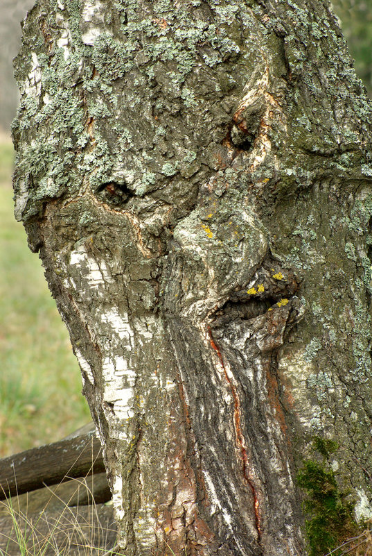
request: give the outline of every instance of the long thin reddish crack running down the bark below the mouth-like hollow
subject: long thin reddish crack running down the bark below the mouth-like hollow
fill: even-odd
[[[215,344],[215,341],[212,336],[211,327],[208,326],[208,333],[209,333],[209,342],[211,344],[211,348],[214,349],[215,353],[218,355],[218,359],[220,360],[220,364],[222,369],[224,370],[224,376],[226,377],[227,382],[229,382],[229,386],[231,388],[231,393],[233,394],[233,401],[234,401],[234,425],[236,430],[236,441],[240,448],[240,453],[242,454],[242,466],[243,466],[243,475],[245,480],[247,480],[248,485],[251,489],[253,499],[254,499],[254,516],[256,521],[256,530],[258,534],[258,544],[260,544],[261,539],[261,528],[260,528],[260,503],[258,502],[258,497],[256,494],[256,489],[254,488],[254,483],[251,480],[249,475],[249,459],[247,455],[247,450],[245,449],[245,438],[242,435],[242,429],[240,427],[240,399],[238,393],[236,391],[236,387],[231,382],[229,375],[224,367],[224,360],[222,359],[222,355],[220,352],[220,348]]]

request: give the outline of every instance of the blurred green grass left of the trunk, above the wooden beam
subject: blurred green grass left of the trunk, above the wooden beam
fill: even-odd
[[[12,161],[12,144],[0,136],[0,457],[90,419],[67,330],[12,214]]]

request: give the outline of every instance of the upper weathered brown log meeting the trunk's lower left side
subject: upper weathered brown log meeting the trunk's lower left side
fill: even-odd
[[[93,432],[46,444],[0,460],[0,500],[103,471],[100,441]]]

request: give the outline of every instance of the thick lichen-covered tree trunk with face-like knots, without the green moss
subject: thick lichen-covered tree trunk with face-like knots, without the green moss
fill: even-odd
[[[371,517],[372,111],[326,0],[38,0],[23,28],[15,214],[118,546],[314,552],[303,459]]]

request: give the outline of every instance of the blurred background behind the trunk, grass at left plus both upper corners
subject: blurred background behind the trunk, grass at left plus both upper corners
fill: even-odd
[[[11,59],[19,48],[19,21],[33,3],[0,0],[0,457],[56,441],[90,419],[67,330],[12,213],[8,129],[17,87]],[[333,0],[333,6],[372,95],[372,0]]]

